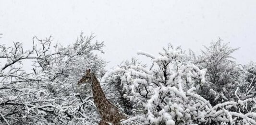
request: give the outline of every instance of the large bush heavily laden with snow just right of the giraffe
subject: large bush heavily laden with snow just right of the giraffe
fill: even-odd
[[[169,45],[159,52],[159,57],[145,52],[139,55],[150,57],[152,66],[128,64],[111,71],[110,76],[120,76],[125,98],[143,107],[122,124],[153,125],[254,125],[256,113],[247,110],[247,102],[255,98],[218,103],[196,94],[205,84],[207,70],[195,66],[180,47]],[[136,111],[136,110],[134,110]],[[235,111],[235,112],[234,112]]]

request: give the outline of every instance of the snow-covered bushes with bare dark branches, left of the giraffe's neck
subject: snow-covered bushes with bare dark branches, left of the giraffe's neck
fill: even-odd
[[[30,50],[18,42],[0,45],[0,123],[97,124],[90,90],[76,86],[85,68],[92,68],[99,77],[105,73],[106,62],[95,54],[103,52],[104,44],[92,42],[93,38],[81,34],[73,45],[58,47],[51,45],[51,37],[34,37]],[[31,72],[23,69],[24,61],[33,61]]]

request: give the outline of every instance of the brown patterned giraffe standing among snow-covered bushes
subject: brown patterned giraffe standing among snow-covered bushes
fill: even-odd
[[[92,84],[94,103],[101,117],[99,125],[109,125],[108,123],[111,123],[112,125],[121,125],[120,121],[122,119],[127,119],[127,117],[122,114],[116,106],[108,101],[100,87],[98,79],[94,73],[91,73],[90,71],[91,69],[87,69],[85,75],[77,82],[77,84],[81,85],[86,82]]]

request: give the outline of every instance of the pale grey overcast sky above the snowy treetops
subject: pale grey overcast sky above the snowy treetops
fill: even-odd
[[[80,32],[105,41],[108,68],[168,43],[196,52],[221,37],[241,47],[234,57],[256,61],[256,0],[0,0],[0,44],[49,35],[72,44]]]

